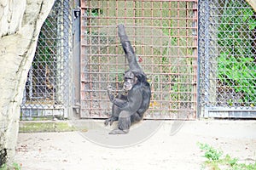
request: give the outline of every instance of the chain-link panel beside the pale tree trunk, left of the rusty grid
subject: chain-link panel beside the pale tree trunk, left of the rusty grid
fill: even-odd
[[[69,1],[56,0],[38,37],[20,116],[64,116],[68,100]],[[67,95],[66,95],[67,94]]]

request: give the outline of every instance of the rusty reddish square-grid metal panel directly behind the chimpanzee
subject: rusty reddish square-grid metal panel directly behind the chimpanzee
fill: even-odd
[[[81,3],[81,116],[108,116],[108,84],[122,91],[129,67],[117,25],[124,24],[152,88],[146,117],[195,118],[197,1]]]

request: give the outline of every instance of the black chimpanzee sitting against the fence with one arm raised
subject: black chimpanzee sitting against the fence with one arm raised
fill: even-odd
[[[105,125],[112,125],[118,122],[118,128],[110,134],[125,134],[129,132],[132,122],[139,122],[143,119],[143,114],[148,110],[151,90],[147,82],[147,77],[141,67],[137,64],[136,54],[131,47],[131,42],[125,34],[125,26],[119,25],[119,37],[125,56],[129,62],[129,71],[125,71],[124,89],[126,95],[119,94],[116,98],[113,95],[113,88],[108,87],[108,96],[113,103],[112,116],[105,121]]]

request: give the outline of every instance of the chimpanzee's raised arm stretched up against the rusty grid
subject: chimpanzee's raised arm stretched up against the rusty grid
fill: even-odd
[[[137,63],[136,54],[135,54],[133,48],[131,47],[131,42],[129,41],[128,37],[126,36],[125,26],[120,24],[118,26],[118,29],[119,29],[120,41],[121,41],[122,47],[125,51],[126,59],[128,59],[128,62],[129,62],[130,71],[134,71],[137,73],[143,73],[141,67]]]

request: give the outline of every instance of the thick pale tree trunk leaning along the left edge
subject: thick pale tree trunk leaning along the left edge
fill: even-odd
[[[39,31],[53,3],[54,0],[0,2],[0,167],[15,155],[27,72]]]

